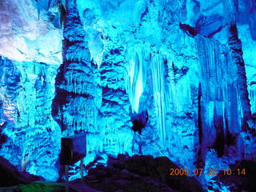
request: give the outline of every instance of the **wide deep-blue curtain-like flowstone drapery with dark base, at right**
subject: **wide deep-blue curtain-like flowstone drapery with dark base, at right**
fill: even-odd
[[[197,36],[199,62],[201,66],[200,118],[198,124],[201,149],[198,159],[204,162],[207,148],[215,148],[223,155],[226,145],[226,130],[232,134],[241,131],[242,116],[238,106],[235,77],[237,68],[225,46],[211,39]],[[218,69],[222,69],[222,72]],[[199,114],[198,114],[199,115]],[[199,117],[198,117],[199,118]],[[224,123],[225,122],[225,123]],[[232,127],[226,127],[232,125]]]

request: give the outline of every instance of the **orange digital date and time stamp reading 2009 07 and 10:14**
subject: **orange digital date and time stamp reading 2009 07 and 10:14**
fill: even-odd
[[[246,169],[200,169],[196,168],[193,170],[189,169],[174,169],[171,168],[169,171],[170,176],[181,176],[181,175],[189,175],[189,176],[200,176],[200,175],[217,175],[220,171],[224,175],[246,175]]]

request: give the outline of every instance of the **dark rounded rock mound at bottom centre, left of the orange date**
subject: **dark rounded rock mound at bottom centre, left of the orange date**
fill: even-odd
[[[110,159],[109,166],[91,169],[84,181],[102,191],[180,191],[204,192],[195,178],[170,176],[170,168],[178,168],[169,158],[134,155]]]

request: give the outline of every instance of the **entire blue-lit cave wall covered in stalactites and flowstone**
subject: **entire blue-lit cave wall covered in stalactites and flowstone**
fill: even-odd
[[[24,42],[33,51],[20,61],[0,46],[2,156],[20,168],[29,159],[30,173],[54,180],[60,138],[84,133],[86,164],[117,154],[190,169],[255,159],[253,0],[46,2],[29,2],[47,29]],[[20,45],[14,37],[0,35]],[[146,110],[134,132],[131,117]]]

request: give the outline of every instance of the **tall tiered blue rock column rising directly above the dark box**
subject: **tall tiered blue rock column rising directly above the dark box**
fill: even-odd
[[[58,94],[63,93],[61,97],[66,99],[63,104],[59,102],[58,117],[55,117],[62,122],[62,136],[98,132],[102,93],[98,68],[90,62],[88,38],[82,25],[76,2],[68,1],[63,31],[65,59],[56,84],[60,90]]]

